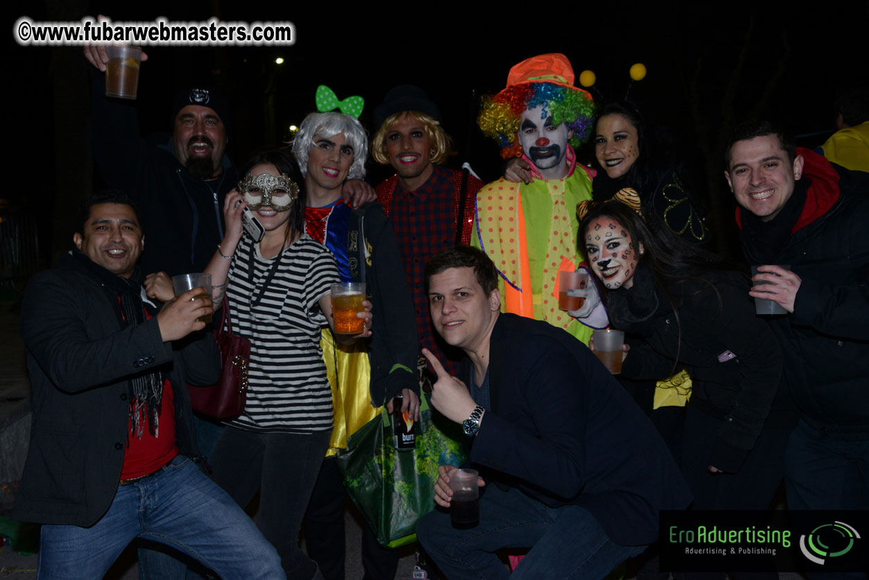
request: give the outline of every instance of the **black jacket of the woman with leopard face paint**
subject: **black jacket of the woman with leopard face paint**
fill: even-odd
[[[630,289],[609,293],[609,315],[615,328],[642,337],[629,341],[622,374],[660,380],[684,367],[693,384],[689,404],[725,420],[709,464],[736,470],[753,449],[779,389],[781,350],[754,314],[748,280],[724,272],[698,277],[708,283],[687,281],[670,289],[677,319],[648,267],[640,265]]]

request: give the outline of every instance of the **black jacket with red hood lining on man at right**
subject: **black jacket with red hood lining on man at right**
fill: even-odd
[[[811,182],[799,221],[810,221],[774,263],[789,264],[801,282],[793,314],[770,325],[803,416],[842,437],[869,439],[869,174],[799,152]]]

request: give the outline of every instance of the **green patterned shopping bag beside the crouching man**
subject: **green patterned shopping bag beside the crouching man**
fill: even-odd
[[[386,407],[338,451],[344,485],[381,545],[396,548],[416,540],[416,522],[434,509],[434,482],[440,465],[461,465],[464,449],[461,425],[449,421],[420,397],[413,450],[395,450],[391,417]]]

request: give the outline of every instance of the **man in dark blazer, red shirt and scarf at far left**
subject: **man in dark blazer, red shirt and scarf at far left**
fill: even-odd
[[[142,228],[123,193],[90,197],[73,239],[22,303],[33,425],[13,516],[44,524],[39,576],[103,577],[140,537],[222,577],[283,577],[275,549],[192,460],[185,383],[220,376],[197,321],[210,300],[195,289],[159,312],[148,303]]]

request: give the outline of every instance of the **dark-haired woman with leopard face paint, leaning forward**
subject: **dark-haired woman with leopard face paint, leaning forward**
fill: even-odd
[[[578,209],[580,250],[607,290],[611,323],[628,337],[621,374],[662,379],[685,368],[693,393],[677,459],[694,507],[764,510],[789,433],[773,404],[779,344],[746,298],[746,276],[639,208],[634,199],[634,208],[609,201]]]

